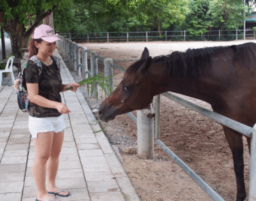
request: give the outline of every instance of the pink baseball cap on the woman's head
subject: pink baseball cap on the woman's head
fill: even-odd
[[[48,43],[53,43],[56,40],[60,40],[59,37],[56,37],[55,31],[53,30],[53,28],[44,24],[35,28],[34,38],[35,39],[41,38],[47,41]]]

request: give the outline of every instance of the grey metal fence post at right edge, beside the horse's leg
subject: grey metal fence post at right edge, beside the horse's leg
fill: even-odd
[[[251,138],[251,156],[250,156],[250,187],[248,200],[256,200],[256,124],[254,124]]]

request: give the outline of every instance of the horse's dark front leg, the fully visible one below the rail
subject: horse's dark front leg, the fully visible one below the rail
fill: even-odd
[[[242,134],[224,127],[224,133],[233,155],[233,167],[236,174],[236,201],[242,201],[246,198],[244,163],[243,163],[243,145]]]

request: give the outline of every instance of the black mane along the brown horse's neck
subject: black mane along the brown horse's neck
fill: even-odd
[[[212,55],[218,51],[233,49],[233,62],[244,61],[247,51],[251,51],[251,44],[244,43],[232,46],[213,46],[199,49],[187,49],[185,52],[175,51],[170,55],[160,55],[152,58],[152,63],[164,62],[169,77],[182,77],[194,80],[204,74],[206,68],[211,66]],[[145,59],[139,60],[128,68],[128,72],[137,72]]]

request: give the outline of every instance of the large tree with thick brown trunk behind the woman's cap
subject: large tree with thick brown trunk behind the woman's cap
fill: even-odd
[[[3,13],[2,26],[9,34],[14,55],[22,57],[20,49],[26,47],[29,37],[56,7],[64,7],[70,0],[2,0],[0,12]]]

